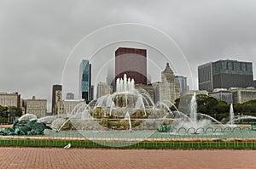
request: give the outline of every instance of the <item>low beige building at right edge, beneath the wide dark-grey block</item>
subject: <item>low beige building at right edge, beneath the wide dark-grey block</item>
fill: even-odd
[[[234,104],[242,104],[256,99],[256,89],[254,87],[232,87],[229,91],[232,93]]]

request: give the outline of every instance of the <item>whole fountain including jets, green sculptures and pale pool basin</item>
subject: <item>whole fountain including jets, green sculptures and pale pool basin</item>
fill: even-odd
[[[195,93],[186,104],[187,110],[182,112],[172,104],[176,109],[172,111],[169,106],[166,102],[154,104],[145,90],[136,89],[134,80],[124,75],[117,79],[113,94],[89,104],[78,104],[66,115],[39,119],[35,115],[23,115],[15,121],[14,127],[0,129],[0,135],[44,134],[45,137],[62,139],[75,135],[114,147],[154,140],[191,141],[199,137],[201,141],[212,142],[220,138],[245,137],[245,134],[251,134],[248,132],[251,128],[238,127],[236,121],[256,120],[251,115],[234,115],[233,104],[230,104],[230,121],[226,124],[198,113]]]

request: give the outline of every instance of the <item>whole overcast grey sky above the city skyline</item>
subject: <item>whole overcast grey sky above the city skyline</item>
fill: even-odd
[[[93,82],[102,81],[119,46],[147,48],[154,81],[171,62],[191,89],[197,66],[218,59],[251,61],[255,74],[255,8],[253,0],[0,0],[0,91],[49,104],[53,84],[78,91],[70,82],[80,59],[98,63]]]

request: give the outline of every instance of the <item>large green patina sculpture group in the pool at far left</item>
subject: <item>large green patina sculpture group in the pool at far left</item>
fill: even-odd
[[[51,127],[46,126],[44,122],[38,122],[38,119],[27,121],[26,125],[19,124],[17,120],[14,122],[13,127],[0,130],[0,135],[43,135],[44,129],[51,130]]]

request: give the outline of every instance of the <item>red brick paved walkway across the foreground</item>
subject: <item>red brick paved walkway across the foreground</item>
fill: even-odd
[[[256,168],[255,150],[0,148],[0,168]]]

